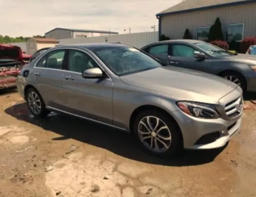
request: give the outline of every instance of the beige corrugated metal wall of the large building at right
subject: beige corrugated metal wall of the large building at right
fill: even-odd
[[[197,28],[213,25],[217,17],[220,18],[223,32],[225,25],[245,23],[244,36],[256,35],[256,3],[166,15],[161,19],[161,34],[180,39],[188,28],[196,38]]]

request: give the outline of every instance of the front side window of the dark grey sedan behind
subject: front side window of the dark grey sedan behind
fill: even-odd
[[[187,45],[172,45],[172,56],[175,57],[194,57],[195,51],[196,50]]]

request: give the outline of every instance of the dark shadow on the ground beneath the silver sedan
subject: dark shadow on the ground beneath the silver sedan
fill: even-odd
[[[53,138],[52,140],[54,141],[73,138],[77,141],[104,148],[122,157],[157,165],[195,166],[205,164],[212,162],[225,148],[205,151],[184,151],[176,157],[163,159],[144,152],[134,142],[129,133],[113,129],[112,127],[60,114],[38,120],[30,115],[25,103],[9,107],[5,109],[5,113],[19,120],[42,127],[44,130],[61,135],[61,137]]]

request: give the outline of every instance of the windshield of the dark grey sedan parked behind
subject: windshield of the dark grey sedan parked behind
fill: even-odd
[[[197,42],[194,45],[196,45],[199,49],[203,50],[207,54],[211,56],[229,56],[231,53],[229,51],[225,51],[222,48],[219,48],[218,46],[209,44],[207,42]]]

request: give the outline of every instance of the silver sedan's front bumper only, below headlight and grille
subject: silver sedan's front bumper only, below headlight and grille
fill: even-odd
[[[181,111],[174,113],[181,128],[185,149],[213,149],[225,146],[229,139],[240,131],[242,122],[242,112],[232,120],[195,118]],[[217,132],[219,132],[219,136],[212,139],[211,142],[198,144],[198,141],[204,136]]]

